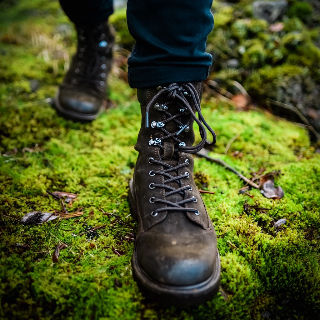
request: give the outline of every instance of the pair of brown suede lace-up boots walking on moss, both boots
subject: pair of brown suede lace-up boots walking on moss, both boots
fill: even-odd
[[[69,118],[92,120],[105,106],[114,36],[108,23],[77,32],[77,52],[56,108]],[[182,306],[210,299],[220,284],[216,233],[193,179],[191,154],[209,143],[206,128],[215,143],[201,113],[201,94],[202,82],[137,91],[142,125],[129,192],[139,221],[132,268],[148,296]],[[202,138],[195,146],[194,121]]]

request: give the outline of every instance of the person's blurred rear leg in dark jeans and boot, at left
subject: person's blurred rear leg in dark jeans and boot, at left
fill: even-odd
[[[74,120],[93,120],[106,104],[114,35],[108,25],[112,0],[60,0],[75,23],[78,45],[55,97],[57,110]]]

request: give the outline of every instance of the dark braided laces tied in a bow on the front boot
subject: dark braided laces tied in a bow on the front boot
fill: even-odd
[[[186,159],[184,163],[179,164],[179,154],[178,151],[182,151],[185,153],[196,153],[200,151],[203,147],[204,144],[207,143],[208,145],[214,145],[216,143],[216,134],[213,131],[213,129],[207,124],[205,121],[202,112],[201,112],[201,106],[200,106],[200,97],[198,95],[198,92],[196,91],[196,88],[193,84],[187,83],[187,84],[170,84],[168,87],[158,87],[158,92],[155,94],[155,96],[149,101],[149,103],[146,106],[146,127],[149,127],[149,110],[151,106],[155,103],[155,101],[158,99],[159,96],[161,95],[166,95],[168,97],[168,102],[165,104],[159,104],[156,103],[154,105],[154,108],[158,111],[163,111],[166,114],[166,119],[163,120],[163,122],[155,122],[153,121],[151,123],[151,126],[153,128],[158,128],[163,132],[163,137],[162,139],[151,139],[149,141],[149,145],[154,145],[162,150],[164,150],[164,145],[163,141],[166,139],[173,139],[174,140],[174,152],[173,152],[173,157],[177,160],[178,164],[173,166],[170,164],[167,164],[163,160],[163,155],[160,156],[161,160],[155,160],[154,158],[150,157],[148,159],[148,162],[150,164],[158,164],[161,165],[164,170],[163,171],[154,171],[151,170],[149,172],[150,176],[155,176],[156,174],[164,176],[164,182],[163,184],[156,184],[156,183],[150,183],[149,188],[154,189],[154,188],[163,188],[166,190],[164,193],[165,197],[168,197],[170,195],[174,194],[180,194],[182,195],[182,200],[172,202],[168,199],[160,199],[156,197],[151,197],[149,199],[150,203],[163,203],[166,204],[166,206],[162,208],[158,208],[155,211],[151,212],[151,216],[156,217],[158,215],[158,212],[162,211],[182,211],[182,212],[194,212],[196,215],[199,215],[199,211],[193,208],[185,208],[184,204],[189,203],[189,202],[197,202],[197,199],[195,196],[192,196],[191,198],[188,198],[186,190],[192,190],[192,187],[190,185],[183,185],[182,179],[188,179],[189,178],[189,173],[185,172],[184,174],[179,175],[179,169],[183,168],[185,166],[189,165],[189,160]],[[186,97],[191,97],[193,100],[193,103],[196,108],[196,112],[198,113],[198,117],[196,116],[196,112],[193,110],[191,107],[190,103],[188,102]],[[169,112],[170,109],[170,104],[177,104],[179,107],[179,113],[176,114],[171,114]],[[174,108],[176,110],[176,108]],[[189,115],[189,119],[187,123],[183,124],[179,120],[181,117],[181,114],[184,115]],[[196,144],[195,146],[187,146],[185,142],[181,141],[179,139],[179,134],[182,131],[189,131],[189,126],[192,125],[192,120],[198,124],[199,127],[199,132],[201,136],[201,141]],[[170,122],[170,121],[175,121],[177,123],[177,131],[175,132],[169,132],[165,129],[165,124]],[[208,131],[212,135],[212,142],[209,142],[207,140],[207,132],[205,129],[208,129]],[[173,176],[170,174],[170,172],[176,172],[176,176]],[[177,188],[174,188],[168,183],[170,182],[176,182]]]

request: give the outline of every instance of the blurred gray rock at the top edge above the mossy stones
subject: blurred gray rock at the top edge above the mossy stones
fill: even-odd
[[[274,23],[283,17],[287,7],[286,0],[255,1],[253,2],[253,16]]]

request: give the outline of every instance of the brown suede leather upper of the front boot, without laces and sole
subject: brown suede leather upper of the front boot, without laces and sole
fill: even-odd
[[[195,83],[196,89],[201,96],[202,83]],[[135,149],[139,152],[137,164],[134,171],[134,190],[136,204],[138,208],[139,230],[136,236],[135,250],[138,252],[138,261],[144,272],[155,281],[172,286],[189,286],[199,284],[212,275],[216,268],[217,238],[212,222],[207,214],[204,203],[196,188],[193,179],[194,160],[191,154],[179,151],[179,159],[170,157],[171,147],[165,150],[165,158],[160,158],[162,149],[157,146],[150,146],[149,140],[162,138],[163,132],[151,126],[145,127],[145,106],[156,94],[156,88],[139,90],[138,100],[141,104],[142,125],[138,135]],[[167,102],[168,98],[160,97],[155,103]],[[191,104],[191,101],[189,101]],[[192,104],[191,104],[192,106]],[[181,108],[177,104],[170,104],[170,113],[175,114]],[[173,111],[176,110],[176,111]],[[180,120],[186,123],[188,115],[181,115]],[[162,121],[165,119],[164,112],[156,111],[153,106],[149,110],[150,123],[152,121]],[[170,121],[165,129],[168,132],[177,131],[177,124]],[[187,146],[194,143],[194,132],[190,124],[189,132],[181,132],[179,139]],[[164,143],[173,143],[172,139],[164,140]],[[176,146],[175,146],[176,148]],[[190,185],[192,190],[185,190],[184,194],[172,194],[164,196],[164,188],[149,188],[151,183],[163,184],[164,176],[156,174],[150,175],[150,171],[162,171],[163,166],[150,164],[148,159],[161,160],[172,166],[178,163],[183,164],[189,161],[188,166],[184,166],[178,172],[170,172],[172,176],[189,173],[189,178],[181,179],[182,185]],[[168,183],[177,188],[176,182]],[[167,184],[167,185],[168,185]],[[151,197],[166,199],[172,202],[181,201],[186,198],[195,197],[196,202],[188,202],[185,207],[199,211],[199,215],[194,212],[180,211],[160,211],[153,217],[152,212],[163,208],[166,204],[150,203]]]

